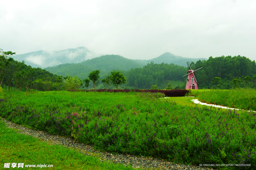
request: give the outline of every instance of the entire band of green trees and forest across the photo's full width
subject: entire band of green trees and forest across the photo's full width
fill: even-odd
[[[108,73],[100,70],[90,70],[88,78],[80,79],[78,76],[58,76],[41,68],[32,68],[27,66],[24,61],[14,61],[11,56],[15,53],[4,52],[0,49],[0,78],[1,83],[6,85],[9,90],[31,91],[50,91],[64,89],[79,89],[92,86],[96,89],[171,89],[170,81],[184,82],[182,78],[188,71],[188,67],[175,64],[155,64],[148,63],[143,68],[135,68],[129,71],[112,70]],[[196,71],[197,85],[200,88],[239,88],[254,87],[256,89],[256,65],[255,61],[251,61],[246,57],[238,56],[221,56],[206,60],[198,60],[196,63],[190,63],[191,68],[195,69],[202,66],[202,69]],[[88,70],[89,71],[89,70]],[[168,85],[167,85],[168,84]],[[167,85],[167,87],[166,87]],[[13,88],[10,88],[13,87]]]

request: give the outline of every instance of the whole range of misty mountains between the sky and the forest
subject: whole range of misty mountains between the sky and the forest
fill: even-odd
[[[103,55],[99,57],[99,54],[93,53],[86,49],[85,47],[78,47],[75,49],[66,49],[60,51],[47,51],[40,50],[35,52],[30,52],[26,54],[18,54],[13,56],[14,60],[17,61],[25,61],[26,65],[30,65],[31,67],[54,67],[57,65],[62,65],[66,63],[80,63],[82,65],[88,65],[92,69],[101,69],[104,71],[108,71],[110,69],[108,63],[118,62],[119,65],[113,64],[113,69],[119,70],[130,70],[135,67],[143,67],[152,61],[157,64],[167,63],[167,64],[177,64],[180,66],[187,67],[187,62],[190,63],[193,61],[196,63],[198,60],[207,60],[206,58],[192,59],[192,58],[184,58],[181,56],[174,55],[172,53],[166,52],[156,58],[150,60],[131,60],[122,58],[116,58],[118,55]],[[95,59],[94,58],[99,58]],[[118,60],[118,61],[116,61]],[[120,60],[120,61],[119,61]],[[121,62],[121,60],[123,60]],[[129,62],[128,62],[129,60]],[[126,62],[129,64],[127,65]],[[108,68],[107,68],[108,67]],[[49,69],[49,68],[47,68]]]

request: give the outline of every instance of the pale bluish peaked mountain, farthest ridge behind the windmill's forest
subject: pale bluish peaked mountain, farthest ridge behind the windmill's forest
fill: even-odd
[[[150,64],[152,61],[156,64],[161,64],[161,63],[167,63],[167,64],[177,64],[179,66],[184,66],[187,67],[187,62],[191,63],[192,61],[196,63],[198,60],[207,60],[206,58],[198,58],[198,59],[192,59],[192,58],[185,58],[181,56],[174,55],[170,52],[163,53],[159,57],[150,59],[150,60],[134,60],[137,63],[140,63],[142,65],[147,65],[148,63]]]

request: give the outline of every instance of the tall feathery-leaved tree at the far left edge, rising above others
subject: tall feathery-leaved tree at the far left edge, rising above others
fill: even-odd
[[[1,82],[0,82],[0,86],[2,85],[3,82],[3,71],[5,69],[5,67],[9,64],[9,61],[12,61],[13,59],[10,58],[10,56],[15,55],[16,52],[12,52],[12,51],[7,51],[4,52],[2,49],[0,49],[0,77],[1,77]]]

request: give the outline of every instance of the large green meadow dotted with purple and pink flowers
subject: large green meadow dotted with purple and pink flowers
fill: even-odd
[[[100,150],[256,168],[256,113],[180,106],[156,93],[7,93],[0,115]],[[237,167],[228,167],[237,169]]]

